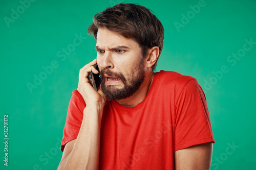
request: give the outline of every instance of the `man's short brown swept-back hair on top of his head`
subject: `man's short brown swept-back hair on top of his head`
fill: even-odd
[[[154,46],[159,47],[159,56],[162,52],[164,39],[162,23],[152,14],[150,9],[143,6],[120,3],[114,7],[106,8],[94,16],[88,34],[93,34],[94,38],[97,39],[97,32],[100,27],[118,32],[126,38],[134,39],[141,46],[144,57],[148,48]],[[152,70],[155,70],[157,61],[152,66]]]

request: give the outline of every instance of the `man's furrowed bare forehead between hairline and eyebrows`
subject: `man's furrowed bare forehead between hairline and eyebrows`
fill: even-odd
[[[97,43],[99,47],[114,47],[127,46],[129,48],[139,48],[139,44],[132,38],[125,38],[121,34],[108,30],[106,28],[99,28],[97,33]]]

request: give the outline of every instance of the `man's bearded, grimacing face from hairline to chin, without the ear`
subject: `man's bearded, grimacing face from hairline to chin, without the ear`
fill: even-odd
[[[144,60],[139,44],[108,29],[97,33],[97,62],[101,90],[110,100],[133,95],[144,81]]]

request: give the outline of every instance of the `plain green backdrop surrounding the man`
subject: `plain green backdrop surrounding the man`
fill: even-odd
[[[96,41],[87,28],[97,12],[119,2],[150,8],[162,22],[165,39],[157,71],[193,76],[204,89],[216,139],[211,169],[254,169],[256,44],[247,45],[250,50],[245,54],[241,50],[245,39],[256,41],[253,0],[206,0],[194,15],[190,6],[199,4],[194,0],[37,0],[27,8],[19,1],[1,0],[0,136],[4,141],[8,114],[9,159],[4,166],[2,142],[0,169],[57,168],[62,155],[59,140],[79,69],[96,58]],[[19,16],[13,14],[17,11]],[[175,23],[182,23],[183,14],[190,19],[177,29]],[[7,17],[15,19],[8,23]],[[72,49],[75,34],[86,38]],[[61,52],[67,47],[68,55]],[[231,61],[229,56],[238,52],[243,57]],[[43,67],[52,62],[57,66],[44,75]],[[27,84],[40,75],[47,77],[29,90]],[[229,144],[239,148],[230,150]]]

